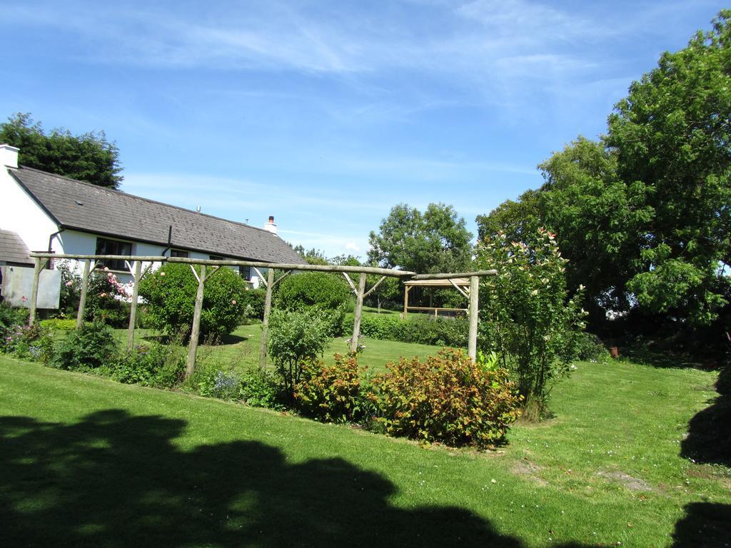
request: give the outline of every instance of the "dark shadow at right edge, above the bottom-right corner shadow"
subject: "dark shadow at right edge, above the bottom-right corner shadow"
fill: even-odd
[[[731,366],[721,369],[716,381],[718,397],[688,423],[681,456],[697,463],[731,466]]]

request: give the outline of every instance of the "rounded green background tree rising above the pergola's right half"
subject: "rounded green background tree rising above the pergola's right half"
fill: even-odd
[[[382,219],[379,232],[371,232],[368,259],[417,273],[454,272],[469,265],[471,237],[451,205],[429,204],[421,213],[398,204]]]

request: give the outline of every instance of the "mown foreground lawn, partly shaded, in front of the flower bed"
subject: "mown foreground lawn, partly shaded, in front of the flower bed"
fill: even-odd
[[[679,456],[714,378],[580,364],[475,453],[0,356],[0,546],[723,547],[730,470]]]

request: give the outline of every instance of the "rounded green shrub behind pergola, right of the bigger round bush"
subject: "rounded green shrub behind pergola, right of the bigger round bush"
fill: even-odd
[[[276,294],[276,305],[285,310],[302,310],[317,306],[335,310],[349,305],[348,283],[334,274],[307,272],[284,278]]]

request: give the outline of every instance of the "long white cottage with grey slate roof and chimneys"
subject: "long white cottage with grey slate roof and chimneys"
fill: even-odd
[[[184,256],[303,264],[276,234],[80,180],[18,166],[18,148],[0,145],[0,229],[31,251],[78,255]],[[126,281],[124,262],[106,265]],[[241,275],[254,285],[248,268]]]

